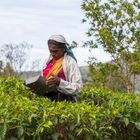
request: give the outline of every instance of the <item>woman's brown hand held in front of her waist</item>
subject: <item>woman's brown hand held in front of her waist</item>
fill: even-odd
[[[50,78],[49,80],[46,81],[46,85],[48,85],[49,87],[56,87],[59,86],[60,84],[60,78],[57,76],[52,76],[52,78]]]

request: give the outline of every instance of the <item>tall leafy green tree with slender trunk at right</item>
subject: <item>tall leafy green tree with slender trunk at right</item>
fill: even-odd
[[[140,73],[140,1],[84,0],[82,9],[92,38],[84,45],[109,53],[127,91],[134,92],[134,77]]]

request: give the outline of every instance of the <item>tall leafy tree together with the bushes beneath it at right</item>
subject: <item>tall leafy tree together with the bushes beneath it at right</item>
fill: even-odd
[[[140,1],[85,0],[82,9],[83,22],[89,24],[84,46],[111,56],[105,64],[91,57],[92,84],[134,93],[140,74]]]

